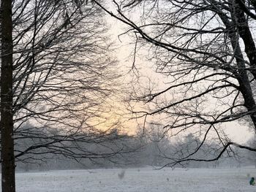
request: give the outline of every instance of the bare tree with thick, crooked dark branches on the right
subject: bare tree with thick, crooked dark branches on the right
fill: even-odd
[[[137,92],[132,101],[146,107],[132,111],[145,119],[158,118],[173,136],[193,133],[200,137],[200,144],[187,155],[167,157],[170,166],[217,161],[224,154],[233,155],[233,146],[255,152],[255,147],[233,142],[222,129],[243,120],[256,130],[255,2],[135,0],[113,4],[116,12],[105,11],[127,24],[127,33],[135,34],[135,58],[147,48],[148,59],[165,82]],[[129,17],[131,10],[138,10],[140,20]],[[195,157],[211,139],[218,144],[214,157]]]

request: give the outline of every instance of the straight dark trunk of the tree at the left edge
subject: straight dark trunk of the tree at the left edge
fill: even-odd
[[[12,114],[12,1],[1,0],[1,191],[15,192]]]

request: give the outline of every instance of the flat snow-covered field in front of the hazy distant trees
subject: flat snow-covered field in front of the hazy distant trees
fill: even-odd
[[[18,192],[256,191],[256,169],[94,169],[16,174]]]

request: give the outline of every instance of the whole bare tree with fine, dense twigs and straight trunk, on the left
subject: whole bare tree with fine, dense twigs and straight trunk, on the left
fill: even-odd
[[[118,73],[103,22],[87,1],[1,1],[3,192],[15,191],[15,159],[94,160],[131,150],[110,137],[119,123],[104,127]]]

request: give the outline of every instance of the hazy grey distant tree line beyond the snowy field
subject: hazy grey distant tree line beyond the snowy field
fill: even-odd
[[[80,135],[80,137],[83,137],[83,135]],[[20,150],[23,150],[24,146],[34,146],[39,143],[41,142],[39,140],[37,141],[37,139],[26,138],[20,142],[19,147]],[[23,172],[29,172],[31,170],[109,169],[114,167],[128,168],[143,166],[161,168],[170,166],[168,164],[170,162],[170,155],[172,155],[172,160],[182,158],[195,150],[200,143],[200,137],[195,137],[193,134],[187,134],[184,137],[173,140],[172,137],[167,137],[161,126],[156,123],[150,123],[143,131],[138,129],[135,135],[122,134],[118,130],[112,130],[108,132],[108,139],[99,144],[95,142],[79,142],[79,140],[69,140],[65,144],[72,149],[73,155],[77,154],[80,149],[86,150],[83,153],[94,154],[108,154],[108,150],[124,150],[129,151],[129,153],[117,153],[116,155],[108,155],[105,158],[72,158],[72,155],[65,154],[64,151],[60,153],[60,150],[56,150],[56,152],[48,153],[48,150],[40,148],[35,154],[26,153],[16,164],[17,169]],[[254,139],[249,140],[247,145],[255,146]],[[212,142],[206,142],[201,147],[202,150],[199,153],[195,153],[192,158],[211,158],[216,155],[217,146],[218,144],[214,140]],[[248,153],[247,150],[237,149],[236,147],[233,147],[230,151],[232,153],[225,153],[219,161],[189,161],[187,164],[177,164],[176,167],[238,168],[241,166],[256,166],[253,153]]]

